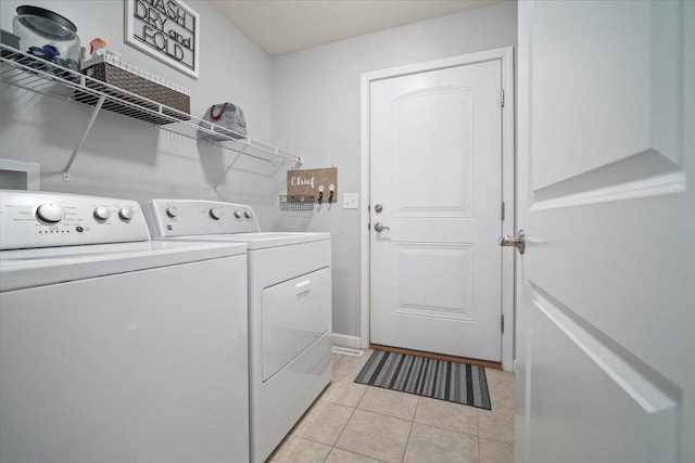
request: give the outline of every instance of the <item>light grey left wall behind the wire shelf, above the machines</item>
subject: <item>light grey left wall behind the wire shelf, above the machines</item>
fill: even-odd
[[[191,114],[202,116],[214,103],[233,102],[245,112],[251,137],[270,142],[273,57],[232,26],[206,1],[187,0],[201,16],[200,78],[179,73],[124,42],[123,0],[1,1],[0,26],[12,30],[21,4],[36,4],[75,23],[83,46],[102,37],[125,61],[191,90]],[[2,86],[0,157],[41,164],[41,189],[147,201],[200,197],[251,203],[269,227],[267,163],[245,158],[215,193],[232,153],[151,124],[102,111],[65,183],[61,171],[84,133],[91,110]],[[277,210],[277,200],[273,203]],[[266,219],[266,220],[263,220]]]

